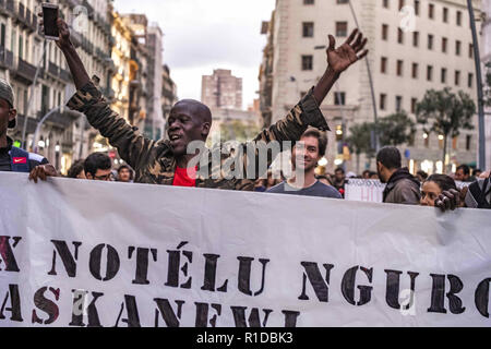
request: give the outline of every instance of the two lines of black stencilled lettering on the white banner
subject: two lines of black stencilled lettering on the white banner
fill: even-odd
[[[17,263],[16,250],[25,242],[20,237],[0,236],[0,273],[12,275],[22,275],[23,270]],[[46,269],[39,268],[39,273],[45,273],[46,277],[51,278],[52,282],[45,285],[32,294],[34,309],[26,309],[21,303],[23,298],[23,285],[10,284],[2,285],[0,291],[4,294],[0,298],[0,325],[1,322],[31,323],[39,325],[58,326],[168,326],[179,327],[183,314],[193,313],[196,327],[217,327],[220,326],[221,316],[232,316],[237,327],[266,327],[272,316],[280,316],[285,327],[295,327],[298,318],[302,316],[296,310],[272,310],[246,306],[243,304],[217,304],[203,302],[185,302],[179,299],[154,298],[140,299],[137,294],[124,293],[124,285],[121,285],[121,293],[118,297],[111,294],[110,302],[101,304],[105,298],[104,282],[115,279],[121,270],[122,263],[129,263],[127,268],[134,272],[133,278],[128,280],[133,286],[155,287],[163,290],[166,288],[181,289],[182,292],[190,292],[200,288],[209,293],[227,293],[230,291],[229,284],[236,282],[237,290],[247,297],[259,298],[270,287],[288,287],[278,285],[268,285],[268,266],[273,263],[271,260],[237,256],[235,261],[220,260],[219,254],[196,254],[187,251],[188,242],[181,242],[176,249],[154,249],[129,246],[125,251],[118,251],[110,244],[98,244],[91,249],[81,241],[47,241],[52,246],[52,260],[47,261]],[[86,265],[80,265],[79,257],[81,253],[88,253],[88,270],[95,280],[101,281],[99,290],[81,289],[60,289],[57,288],[57,278],[77,278],[77,272]],[[164,253],[163,253],[164,252]],[[201,258],[204,265],[201,275],[191,275],[190,265]],[[152,264],[166,264],[167,275],[165,281],[149,280],[148,269]],[[220,279],[218,275],[220,263],[235,263],[237,265],[236,279]],[[258,264],[258,265],[255,265]],[[254,267],[255,266],[255,267]],[[259,268],[258,268],[259,267]],[[292,278],[300,278],[301,289],[291,289],[294,301],[315,301],[320,303],[330,302],[330,291],[336,282],[346,301],[346,306],[363,306],[372,300],[372,280],[374,273],[384,273],[386,276],[385,290],[375,290],[385,292],[386,305],[400,312],[400,316],[411,313],[414,298],[417,294],[418,277],[430,277],[432,279],[431,299],[428,300],[430,306],[429,313],[439,313],[442,315],[458,315],[466,311],[476,313],[476,316],[489,318],[489,291],[491,278],[483,279],[478,285],[465,286],[463,280],[456,275],[430,274],[421,275],[417,272],[407,272],[410,279],[409,297],[406,300],[400,299],[404,290],[400,289],[400,278],[405,274],[403,270],[374,270],[364,266],[354,266],[346,272],[340,280],[333,280],[331,272],[336,268],[335,264],[320,264],[315,262],[300,262],[298,269],[290,270]],[[260,273],[253,273],[261,270]],[[104,272],[103,272],[104,270]],[[1,275],[0,275],[1,277]],[[260,282],[253,280],[255,277]],[[219,281],[218,281],[219,280]],[[258,289],[252,289],[251,284],[260,285]],[[450,288],[445,285],[448,284]],[[459,292],[465,287],[475,289],[474,300],[463,300]],[[236,291],[237,291],[236,290]],[[356,291],[358,290],[358,291]],[[447,301],[445,301],[447,299]],[[152,320],[141,318],[139,306],[141,302],[154,308],[155,317]],[[448,305],[445,306],[445,303]],[[474,303],[474,304],[470,304]],[[109,311],[108,304],[111,304],[111,313],[115,313],[112,323],[101,323],[99,314]],[[472,309],[468,309],[468,308]],[[69,324],[59,323],[60,313],[71,312],[71,322]]]

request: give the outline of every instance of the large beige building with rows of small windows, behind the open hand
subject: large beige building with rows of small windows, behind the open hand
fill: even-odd
[[[369,62],[380,117],[398,110],[414,117],[416,103],[431,88],[451,87],[453,92],[464,91],[477,99],[472,38],[465,0],[357,0],[351,3],[360,28],[369,38]],[[480,9],[480,1],[475,4]],[[399,9],[404,5],[415,11],[414,31],[399,29],[404,22]],[[348,1],[276,2],[266,31],[271,40],[260,74],[262,110],[268,107],[267,98],[271,98],[273,122],[284,117],[322,76],[326,68],[327,34],[335,35],[339,46],[354,28]],[[268,83],[272,83],[270,95]],[[340,153],[347,130],[355,123],[374,119],[364,62],[343,75],[322,110],[333,129],[326,156],[327,170],[332,171],[344,164]],[[463,131],[458,139],[450,142],[448,163],[454,168],[457,164],[476,164],[477,141],[476,131]],[[415,143],[400,149],[409,155],[405,165],[414,172],[443,170],[440,135],[427,135],[418,125]],[[352,159],[344,165],[347,170],[356,170],[355,163]],[[374,168],[373,161],[371,165]]]

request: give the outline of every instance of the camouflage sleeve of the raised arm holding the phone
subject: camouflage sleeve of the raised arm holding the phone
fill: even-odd
[[[136,128],[111,110],[109,103],[92,82],[77,91],[67,106],[84,113],[91,125],[109,140],[119,156],[133,169],[137,170],[145,164],[154,141],[142,136]]]

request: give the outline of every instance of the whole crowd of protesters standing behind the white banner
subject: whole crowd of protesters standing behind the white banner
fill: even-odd
[[[43,25],[43,23],[41,23]],[[83,112],[91,125],[108,139],[121,158],[128,164],[117,169],[115,176],[111,159],[101,153],[89,155],[85,160],[73,164],[68,177],[82,180],[136,182],[177,186],[267,192],[319,196],[328,198],[345,197],[346,184],[355,173],[346,173],[337,168],[334,174],[316,176],[315,170],[327,148],[326,132],[331,131],[320,105],[343,72],[364,58],[367,39],[355,29],[348,39],[336,48],[335,38],[330,36],[327,68],[319,83],[279,122],[263,130],[253,142],[291,142],[291,166],[294,176],[280,180],[270,171],[265,179],[250,180],[230,177],[220,167],[208,178],[197,176],[197,166],[192,167],[195,154],[189,154],[188,145],[195,141],[206,142],[212,127],[208,107],[191,99],[177,103],[168,118],[168,141],[154,142],[142,136],[135,128],[128,124],[110,109],[109,103],[97,88],[97,79],[89,79],[74,46],[70,31],[62,19],[58,19],[60,32],[56,45],[64,55],[77,92],[68,106]],[[0,171],[29,172],[31,179],[46,180],[57,177],[56,169],[39,155],[29,154],[12,145],[7,136],[8,128],[15,127],[16,111],[13,108],[13,92],[5,81],[0,81]],[[240,152],[237,152],[240,154]],[[237,160],[236,153],[221,157],[221,164]],[[243,155],[241,155],[243,156]],[[244,156],[241,160],[247,163]],[[267,165],[274,158],[268,156]],[[266,173],[255,172],[255,178]],[[249,177],[248,177],[249,178]],[[376,155],[376,172],[364,171],[359,178],[379,179],[385,183],[384,203],[438,206],[443,210],[456,207],[491,208],[490,173],[479,170],[470,172],[460,166],[454,178],[444,174],[429,177],[420,171],[414,177],[402,166],[402,155],[395,147],[384,147]],[[456,181],[472,183],[459,191]]]

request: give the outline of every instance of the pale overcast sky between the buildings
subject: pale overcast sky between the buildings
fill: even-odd
[[[137,4],[137,5],[135,5]],[[201,76],[230,69],[243,79],[243,107],[258,98],[259,69],[275,0],[116,0],[119,13],[144,13],[164,33],[164,63],[179,99],[201,99]]]

